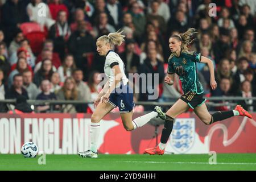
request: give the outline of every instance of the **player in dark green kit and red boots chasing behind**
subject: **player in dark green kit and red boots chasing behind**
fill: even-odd
[[[196,63],[205,63],[208,65],[210,71],[210,86],[213,90],[216,89],[217,83],[214,78],[212,60],[201,56],[201,53],[188,51],[187,46],[193,41],[191,37],[195,33],[195,28],[189,28],[184,34],[172,35],[169,39],[169,47],[172,53],[168,60],[167,76],[164,78],[164,82],[168,85],[172,85],[174,83],[174,74],[176,73],[179,75],[180,81],[182,82],[184,94],[166,112],[166,121],[164,122],[160,143],[156,147],[147,148],[144,151],[146,154],[164,154],[164,148],[166,147],[167,140],[172,132],[174,119],[181,113],[187,111],[189,107],[194,110],[196,115],[206,125],[235,115],[252,118],[251,114],[240,105],[237,105],[234,110],[218,111],[213,114],[209,113],[207,106],[204,103],[206,101],[206,99],[203,98],[204,90],[197,77]]]

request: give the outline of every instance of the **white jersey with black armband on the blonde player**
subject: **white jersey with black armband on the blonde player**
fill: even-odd
[[[122,82],[123,85],[126,85],[128,82],[128,78],[125,75],[125,64],[123,64],[123,61],[119,57],[117,53],[110,50],[106,55],[106,61],[104,65],[104,73],[109,79],[109,86],[113,84],[115,80],[115,75],[113,72],[114,65],[118,65],[120,68],[120,71],[122,73]],[[115,88],[118,88],[120,86],[120,82],[115,86]]]

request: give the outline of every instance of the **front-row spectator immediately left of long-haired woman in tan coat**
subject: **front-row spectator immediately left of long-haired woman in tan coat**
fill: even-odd
[[[55,93],[51,92],[51,84],[49,80],[43,80],[40,84],[40,89],[42,92],[36,96],[36,100],[57,100]],[[40,113],[46,113],[47,111],[50,111],[50,109],[49,105],[39,105],[36,107],[36,110]]]

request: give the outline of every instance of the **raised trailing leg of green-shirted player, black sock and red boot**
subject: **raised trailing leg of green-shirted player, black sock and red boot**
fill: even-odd
[[[205,123],[205,125],[210,125],[217,121],[222,121],[224,119],[233,117],[235,115],[246,116],[252,118],[251,114],[249,114],[242,106],[237,105],[234,110],[229,111],[218,111],[217,113],[210,114],[207,106],[202,104],[194,109],[196,115]]]

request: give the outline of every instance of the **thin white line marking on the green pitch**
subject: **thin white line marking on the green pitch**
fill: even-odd
[[[203,162],[159,162],[159,161],[119,161],[117,163],[159,163],[159,164],[209,164],[209,163],[203,163]],[[218,163],[217,164],[232,164],[232,165],[255,165],[256,163]]]

